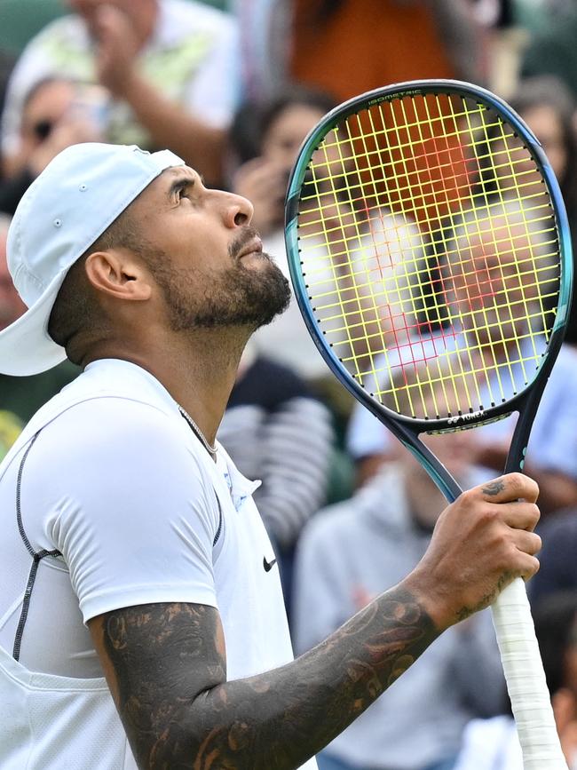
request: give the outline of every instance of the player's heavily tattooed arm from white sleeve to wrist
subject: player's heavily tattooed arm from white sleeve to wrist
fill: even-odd
[[[99,623],[101,657],[132,750],[140,768],[154,770],[296,768],[438,633],[411,593],[397,587],[294,663],[226,682],[212,607],[132,607]]]

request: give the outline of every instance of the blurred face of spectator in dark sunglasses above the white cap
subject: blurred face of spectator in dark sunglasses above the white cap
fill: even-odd
[[[25,149],[42,144],[67,114],[75,99],[75,85],[67,80],[41,83],[22,112],[21,139]]]

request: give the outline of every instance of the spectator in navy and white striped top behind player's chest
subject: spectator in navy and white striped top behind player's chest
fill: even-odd
[[[279,559],[289,613],[296,541],[327,500],[330,412],[293,369],[249,344],[217,437],[241,473],[262,482],[253,497]]]

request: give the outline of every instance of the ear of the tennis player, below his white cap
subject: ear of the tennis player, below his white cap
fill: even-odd
[[[137,302],[151,297],[150,275],[129,252],[94,251],[86,258],[84,269],[94,289],[109,297]]]

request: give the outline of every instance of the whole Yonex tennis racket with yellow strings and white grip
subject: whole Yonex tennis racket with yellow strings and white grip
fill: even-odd
[[[470,83],[398,83],[345,102],[304,140],[286,242],[304,321],[341,383],[423,464],[423,441],[518,412],[521,471],[562,342],[569,227],[534,134]],[[493,606],[526,770],[566,768],[525,583]]]

